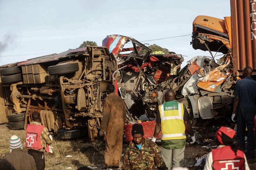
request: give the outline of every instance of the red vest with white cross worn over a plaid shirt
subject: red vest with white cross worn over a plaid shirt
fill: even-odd
[[[41,145],[40,135],[44,129],[43,125],[28,124],[26,131],[26,147],[29,149],[44,149],[49,152],[49,145],[46,148]]]

